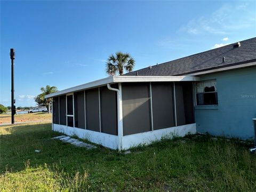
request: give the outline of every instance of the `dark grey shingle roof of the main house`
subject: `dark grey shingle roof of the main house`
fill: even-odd
[[[256,37],[241,41],[241,46],[234,48],[233,44],[205,51],[181,59],[161,63],[151,68],[143,68],[124,74],[135,76],[173,76],[186,75],[197,71],[239,65],[256,61]],[[223,62],[225,57],[225,62]]]

